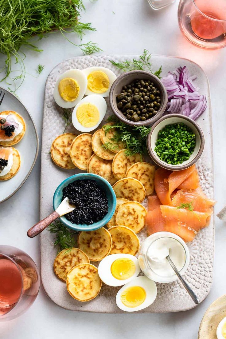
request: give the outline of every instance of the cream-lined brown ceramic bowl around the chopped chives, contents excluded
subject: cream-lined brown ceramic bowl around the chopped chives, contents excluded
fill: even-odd
[[[156,152],[154,151],[154,148],[159,131],[163,129],[166,125],[175,123],[184,123],[185,125],[191,128],[191,130],[196,135],[196,147],[194,149],[193,154],[187,161],[184,161],[182,164],[171,165],[167,164],[167,162],[165,161],[160,160]],[[161,117],[158,121],[156,121],[156,123],[154,123],[154,125],[152,126],[152,130],[147,137],[148,153],[152,160],[160,167],[169,169],[170,171],[179,171],[180,169],[185,169],[194,165],[202,155],[204,143],[205,143],[204,135],[199,125],[194,120],[181,114],[169,114]]]

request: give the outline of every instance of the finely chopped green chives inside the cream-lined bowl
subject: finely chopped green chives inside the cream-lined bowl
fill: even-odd
[[[159,131],[154,150],[161,160],[177,165],[190,158],[195,146],[195,133],[184,123],[178,123]]]

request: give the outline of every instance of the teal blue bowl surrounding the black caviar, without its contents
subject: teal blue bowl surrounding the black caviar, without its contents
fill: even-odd
[[[98,228],[107,224],[107,222],[113,216],[115,212],[115,207],[116,207],[116,195],[115,195],[115,192],[113,191],[112,186],[107,180],[100,177],[99,175],[92,174],[92,173],[79,173],[79,174],[72,175],[71,177],[62,181],[62,183],[57,187],[53,195],[53,201],[52,201],[53,208],[55,211],[57,207],[60,205],[62,198],[63,198],[64,187],[66,187],[68,184],[76,180],[81,180],[81,179],[95,180],[97,184],[99,185],[99,187],[105,192],[107,199],[108,199],[108,213],[103,219],[101,219],[98,222],[94,222],[91,225],[72,224],[69,220],[65,218],[65,216],[60,217],[59,219],[63,222],[63,224],[65,224],[67,227],[71,228],[74,231],[95,231],[95,230],[98,230]]]

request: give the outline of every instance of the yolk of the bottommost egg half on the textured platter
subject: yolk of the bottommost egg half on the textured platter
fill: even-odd
[[[127,307],[137,307],[141,305],[146,298],[146,292],[140,286],[128,287],[121,294],[121,302]]]

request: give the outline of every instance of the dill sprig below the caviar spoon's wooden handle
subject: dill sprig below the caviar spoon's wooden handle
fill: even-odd
[[[67,249],[66,252],[70,252],[71,248],[75,246],[73,234],[78,232],[71,233],[69,228],[66,227],[60,220],[55,220],[54,223],[51,223],[47,230],[50,233],[56,234],[54,237],[54,246],[58,246],[60,251]]]

